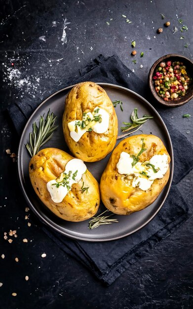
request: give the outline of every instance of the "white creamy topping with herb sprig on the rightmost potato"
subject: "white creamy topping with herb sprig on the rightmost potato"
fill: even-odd
[[[162,178],[168,170],[168,157],[166,154],[155,154],[150,161],[145,164],[137,162],[132,166],[133,158],[130,154],[122,152],[120,154],[116,168],[119,174],[134,175],[132,187],[138,187],[143,191],[150,189],[155,179]],[[154,169],[151,165],[154,165]]]

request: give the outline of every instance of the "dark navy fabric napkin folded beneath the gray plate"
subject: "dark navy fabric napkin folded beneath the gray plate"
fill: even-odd
[[[147,86],[119,58],[114,55],[105,58],[99,55],[92,63],[79,70],[68,84],[91,80],[108,82],[127,87],[147,98]],[[147,98],[148,99],[148,98]],[[21,133],[28,117],[37,104],[30,106],[25,102],[12,105],[8,112],[16,130]],[[161,114],[161,109],[159,108]],[[107,242],[76,241],[43,227],[43,231],[58,246],[91,270],[102,282],[111,284],[130,265],[145,256],[157,243],[170,235],[190,216],[189,205],[185,202],[177,187],[179,181],[193,168],[193,146],[187,138],[164,119],[169,130],[174,150],[174,178],[170,193],[159,213],[143,229],[124,238]],[[186,161],[184,160],[186,149]]]

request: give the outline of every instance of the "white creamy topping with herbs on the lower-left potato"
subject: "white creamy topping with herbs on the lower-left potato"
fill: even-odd
[[[56,179],[50,180],[47,183],[47,190],[51,195],[54,203],[63,201],[66,194],[72,189],[73,184],[77,184],[82,174],[86,171],[86,165],[80,159],[72,159],[65,166],[65,171]],[[67,178],[66,181],[63,181]]]

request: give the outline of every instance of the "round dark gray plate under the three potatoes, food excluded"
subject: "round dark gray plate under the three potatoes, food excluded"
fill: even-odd
[[[45,223],[50,228],[54,229],[61,234],[69,236],[75,239],[87,240],[87,241],[106,241],[113,240],[124,237],[126,235],[132,234],[139,229],[143,228],[146,224],[148,224],[159,211],[161,206],[163,205],[167,194],[169,192],[172,176],[173,176],[173,151],[172,144],[167,128],[159,116],[159,114],[155,111],[152,105],[147,102],[143,97],[138,95],[137,93],[128,90],[121,86],[116,86],[107,83],[99,83],[108,93],[109,97],[112,101],[121,100],[123,102],[123,112],[120,110],[120,107],[116,107],[116,114],[118,117],[118,127],[121,126],[122,121],[129,121],[131,112],[135,107],[138,108],[138,115],[143,116],[152,115],[154,119],[148,120],[142,127],[142,131],[145,134],[157,135],[161,138],[164,145],[167,148],[168,153],[171,156],[171,164],[170,164],[170,178],[160,193],[158,198],[154,201],[152,205],[147,207],[146,209],[133,213],[129,216],[119,216],[115,215],[113,217],[118,219],[118,223],[113,223],[111,225],[103,225],[97,229],[89,230],[88,222],[68,222],[64,221],[58,217],[56,217],[51,211],[49,211],[43,203],[40,201],[39,197],[34,192],[32,185],[30,183],[29,173],[28,173],[28,165],[30,161],[30,156],[25,148],[25,144],[27,144],[29,139],[29,133],[32,131],[33,122],[39,122],[39,116],[46,114],[47,111],[54,112],[57,116],[57,124],[59,125],[58,129],[55,131],[53,138],[45,145],[46,147],[55,147],[62,149],[66,152],[69,152],[68,147],[65,143],[63,130],[62,130],[62,116],[64,112],[64,102],[67,93],[73,87],[67,87],[62,89],[49,98],[47,98],[44,102],[42,102],[33,115],[28,120],[23,134],[21,136],[19,150],[18,150],[18,174],[19,181],[21,184],[22,191],[24,196],[29,204],[29,207],[33,210],[33,212],[39,217],[39,219]],[[140,134],[142,132],[138,131],[134,134]],[[118,135],[121,134],[119,130]],[[117,144],[120,140],[117,141]],[[95,163],[86,163],[89,171],[93,174],[93,176],[100,181],[100,177],[105,169],[105,166],[108,162],[110,154],[103,160]],[[103,204],[100,205],[98,214],[105,210]]]

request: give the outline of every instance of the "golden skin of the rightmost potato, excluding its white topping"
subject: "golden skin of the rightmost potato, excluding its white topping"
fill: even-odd
[[[137,155],[141,150],[142,138],[144,138],[147,150],[139,156],[140,162],[149,160],[155,154],[167,154],[168,163],[170,162],[170,156],[165,146],[154,135],[140,134],[130,136],[117,145],[102,174],[100,192],[104,205],[118,215],[129,215],[151,205],[169,179],[170,170],[168,168],[163,178],[155,179],[150,189],[143,191],[139,188],[133,188],[130,182],[124,179],[125,175],[118,173],[116,164],[121,152],[124,151],[130,155]]]

